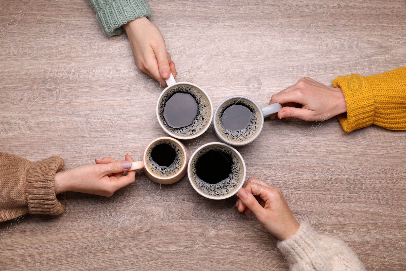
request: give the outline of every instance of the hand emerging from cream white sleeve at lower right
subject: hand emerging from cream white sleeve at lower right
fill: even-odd
[[[266,230],[281,240],[298,230],[299,223],[279,188],[255,177],[248,178],[242,187],[238,191],[240,199],[235,204],[240,212],[245,210],[249,215],[252,211]]]

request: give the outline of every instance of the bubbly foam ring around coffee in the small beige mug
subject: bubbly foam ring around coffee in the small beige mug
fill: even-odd
[[[153,148],[160,144],[164,144],[164,143],[170,145],[173,148],[173,150],[175,150],[175,153],[176,153],[175,161],[169,167],[161,167],[160,165],[155,163],[155,161],[152,160],[152,157],[151,157],[151,152],[152,152]],[[177,143],[170,141],[170,140],[160,140],[160,141],[153,143],[149,147],[149,149],[147,150],[147,156],[146,156],[145,160],[147,162],[146,166],[154,175],[165,178],[165,177],[171,177],[180,171],[180,169],[182,168],[182,165],[184,164],[185,156],[182,151],[182,148]]]

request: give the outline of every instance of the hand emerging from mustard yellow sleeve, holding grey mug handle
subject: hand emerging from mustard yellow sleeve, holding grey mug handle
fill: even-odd
[[[328,87],[309,77],[301,78],[292,87],[272,95],[269,104],[282,104],[278,118],[296,117],[306,121],[324,121],[347,112],[347,104],[340,88]],[[276,117],[276,113],[270,116]]]

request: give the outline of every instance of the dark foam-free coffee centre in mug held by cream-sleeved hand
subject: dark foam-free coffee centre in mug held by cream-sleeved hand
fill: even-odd
[[[196,162],[196,174],[208,184],[217,184],[229,178],[232,172],[233,158],[220,150],[209,150]]]

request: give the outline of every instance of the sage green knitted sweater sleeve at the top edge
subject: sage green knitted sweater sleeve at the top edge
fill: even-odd
[[[114,36],[123,32],[123,24],[138,17],[151,17],[146,0],[88,0],[96,12],[97,21],[104,35]]]

